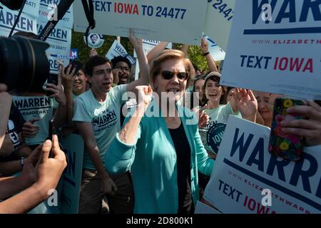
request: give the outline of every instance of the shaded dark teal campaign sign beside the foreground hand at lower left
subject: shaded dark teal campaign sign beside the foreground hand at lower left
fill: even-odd
[[[63,214],[78,213],[81,186],[81,171],[83,166],[83,138],[70,134],[67,138],[60,138],[59,142],[66,154],[67,167],[63,171],[57,189],[60,212]]]

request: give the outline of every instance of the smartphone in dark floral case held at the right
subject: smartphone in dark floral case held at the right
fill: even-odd
[[[306,105],[303,100],[292,98],[276,98],[273,110],[272,128],[270,132],[269,151],[288,160],[297,161],[302,157],[303,138],[282,132],[283,120],[304,119],[305,116],[287,113],[287,108],[295,105]]]

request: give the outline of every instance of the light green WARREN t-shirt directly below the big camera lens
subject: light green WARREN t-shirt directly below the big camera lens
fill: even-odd
[[[47,96],[13,96],[12,100],[24,120],[40,119],[34,123],[34,125],[40,127],[39,133],[34,138],[24,138],[26,145],[36,145],[44,142],[49,135],[49,120],[54,115],[54,108],[58,106],[56,100]]]

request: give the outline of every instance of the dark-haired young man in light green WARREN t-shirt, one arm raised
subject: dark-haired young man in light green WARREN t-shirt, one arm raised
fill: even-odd
[[[148,84],[148,63],[142,43],[136,38],[131,38],[131,42],[142,66],[142,77],[133,83],[112,87],[111,62],[106,58],[93,56],[85,66],[91,90],[79,95],[74,102],[73,121],[76,122],[86,147],[79,213],[99,213],[104,195],[113,196],[108,197],[112,213],[133,212],[133,187],[128,175],[109,176],[104,167],[108,147],[121,130],[121,105],[127,100],[122,99],[123,93]]]

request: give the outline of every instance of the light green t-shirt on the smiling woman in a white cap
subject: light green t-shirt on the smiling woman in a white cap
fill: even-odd
[[[242,115],[240,114],[240,112],[235,114],[230,103],[227,103],[226,105],[219,105],[218,108],[205,109],[204,111],[210,117],[210,123],[206,126],[206,128],[199,129],[200,139],[203,142],[205,150],[207,150],[208,152],[213,152],[212,147],[208,145],[208,142],[206,140],[208,129],[210,129],[210,127],[212,127],[216,123],[228,123],[229,115],[236,115],[240,118],[242,118]]]

